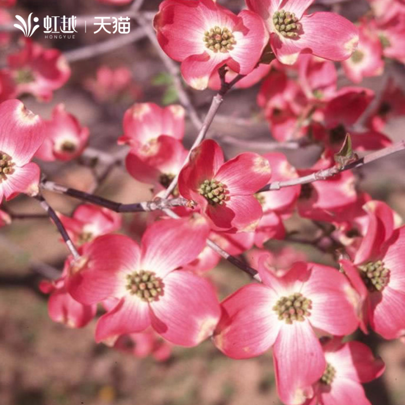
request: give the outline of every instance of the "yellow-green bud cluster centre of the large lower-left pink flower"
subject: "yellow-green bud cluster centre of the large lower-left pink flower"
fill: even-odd
[[[142,301],[157,301],[163,295],[163,281],[153,271],[140,270],[127,275],[127,290]]]

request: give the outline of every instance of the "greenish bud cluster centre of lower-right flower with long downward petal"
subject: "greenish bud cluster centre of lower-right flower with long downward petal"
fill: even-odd
[[[273,310],[278,315],[279,320],[285,320],[291,325],[293,321],[302,322],[305,316],[311,313],[312,301],[305,298],[301,293],[294,293],[288,297],[281,297],[273,306]]]

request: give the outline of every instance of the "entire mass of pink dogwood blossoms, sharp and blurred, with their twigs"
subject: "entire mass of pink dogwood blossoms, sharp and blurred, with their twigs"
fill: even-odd
[[[108,156],[107,171],[95,176],[100,185],[121,164],[151,186],[143,203],[116,203],[41,180],[31,160],[84,164],[90,130],[64,104],[43,119],[16,99],[31,94],[50,101],[66,83],[70,68],[59,50],[24,39],[8,55],[0,69],[0,227],[18,218],[4,203],[20,193],[39,199],[56,224],[72,255],[59,277],[39,285],[50,295],[54,321],[93,325],[96,342],[157,360],[166,360],[173,345],[209,338],[235,359],[271,349],[286,405],[370,405],[361,383],[381,376],[384,362],[344,337],[373,330],[404,339],[405,225],[350,169],[365,163],[357,153],[392,148],[387,124],[405,114],[405,95],[393,77],[378,96],[358,86],[385,74],[388,59],[405,63],[405,7],[402,0],[369,0],[371,11],[353,24],[331,12],[311,13],[312,3],[246,0],[247,9],[234,14],[214,0],[160,2],[153,26],[163,56],[180,62],[189,87],[218,94],[205,117],[184,102],[183,88],[186,108],[145,101],[121,111],[123,133],[114,142],[126,158],[104,152],[87,166],[96,172],[97,159]],[[0,10],[0,23],[8,21]],[[10,41],[0,34],[0,47]],[[342,86],[339,75],[355,85]],[[263,146],[292,145],[301,154],[310,145],[312,160],[294,165],[279,151],[230,154],[221,134],[204,139],[230,88],[259,82],[256,119],[273,138]],[[84,87],[104,107],[133,103],[141,94],[126,67],[102,66]],[[186,112],[200,127],[190,149],[183,144]],[[86,204],[56,213],[42,189]],[[120,213],[137,211],[154,212],[134,214],[127,226]],[[229,283],[222,291],[211,277],[221,257],[255,282],[239,289]]]

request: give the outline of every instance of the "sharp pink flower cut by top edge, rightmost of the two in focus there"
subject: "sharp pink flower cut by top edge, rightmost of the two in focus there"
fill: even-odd
[[[300,53],[345,60],[358,44],[358,30],[346,18],[329,12],[305,14],[314,0],[246,0],[270,32],[276,58],[292,65]]]

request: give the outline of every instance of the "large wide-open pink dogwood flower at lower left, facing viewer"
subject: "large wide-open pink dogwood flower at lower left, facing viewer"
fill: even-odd
[[[195,346],[210,336],[220,316],[213,287],[204,278],[176,270],[195,259],[208,233],[206,221],[198,216],[155,222],[140,247],[124,235],[100,236],[84,245],[82,263],[70,269],[68,291],[87,305],[116,300],[97,322],[96,341],[112,345],[118,336],[149,326],[182,346]]]

